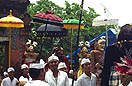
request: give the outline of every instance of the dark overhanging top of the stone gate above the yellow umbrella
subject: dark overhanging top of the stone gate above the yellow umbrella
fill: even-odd
[[[27,6],[30,4],[29,0],[0,0],[0,14],[7,14],[9,10],[13,10],[13,14],[23,14]]]

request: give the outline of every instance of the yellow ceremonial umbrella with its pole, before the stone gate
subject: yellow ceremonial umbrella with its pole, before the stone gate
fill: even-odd
[[[9,67],[10,67],[10,59],[11,59],[11,28],[23,28],[24,27],[24,22],[21,19],[12,16],[12,10],[10,10],[10,15],[0,19],[0,27],[9,28]]]

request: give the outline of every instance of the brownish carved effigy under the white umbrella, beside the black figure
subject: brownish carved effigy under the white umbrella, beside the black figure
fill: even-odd
[[[104,65],[104,47],[105,47],[105,37],[102,36],[100,39],[96,39],[95,42],[91,45],[93,48],[90,52],[91,62],[92,62],[92,72],[96,74],[97,86],[101,86],[101,77],[103,65]]]

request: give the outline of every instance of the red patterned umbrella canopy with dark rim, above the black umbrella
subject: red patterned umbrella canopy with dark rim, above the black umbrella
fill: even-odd
[[[46,23],[46,24],[52,24],[52,25],[58,25],[58,26],[63,25],[62,19],[60,17],[56,16],[51,11],[46,11],[44,13],[38,13],[38,14],[34,15],[33,21]]]

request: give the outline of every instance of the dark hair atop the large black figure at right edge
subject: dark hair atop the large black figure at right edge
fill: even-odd
[[[130,24],[126,24],[121,27],[117,41],[124,41],[124,40],[126,41],[132,40],[132,26]]]

